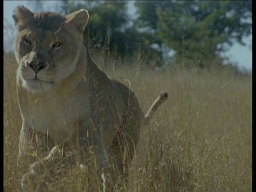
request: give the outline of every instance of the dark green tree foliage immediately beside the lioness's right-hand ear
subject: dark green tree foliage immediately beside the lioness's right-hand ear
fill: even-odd
[[[76,3],[76,4],[74,4]],[[70,6],[68,6],[70,5]],[[103,49],[123,57],[139,49],[140,38],[129,25],[126,1],[63,1],[65,13],[85,8],[90,20],[84,31],[84,39],[91,49]]]

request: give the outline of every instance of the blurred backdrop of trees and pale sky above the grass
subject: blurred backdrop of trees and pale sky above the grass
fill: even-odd
[[[6,53],[13,52],[18,5],[61,14],[87,9],[87,46],[121,62],[140,58],[155,70],[172,65],[252,73],[251,1],[4,1]]]

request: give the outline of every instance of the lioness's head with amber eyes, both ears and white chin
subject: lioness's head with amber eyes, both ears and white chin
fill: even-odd
[[[23,87],[45,92],[74,72],[89,19],[86,10],[63,17],[52,12],[33,13],[19,6],[12,17],[17,30],[14,52]]]

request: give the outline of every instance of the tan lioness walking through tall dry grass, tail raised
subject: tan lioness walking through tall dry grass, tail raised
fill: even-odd
[[[114,162],[114,171],[126,176],[140,127],[166,101],[167,93],[162,91],[143,114],[134,93],[108,78],[90,58],[82,38],[89,20],[84,9],[63,17],[18,6],[12,17],[23,121],[19,162],[31,163],[22,187],[28,189],[28,178],[42,173],[43,162],[50,167],[55,156],[63,157],[60,146],[65,143],[82,154],[81,167],[93,154],[98,170]]]

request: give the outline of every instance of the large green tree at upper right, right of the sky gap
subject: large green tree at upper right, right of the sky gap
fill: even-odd
[[[181,60],[219,58],[225,45],[252,33],[250,1],[139,1],[139,27],[154,31],[156,43]]]

